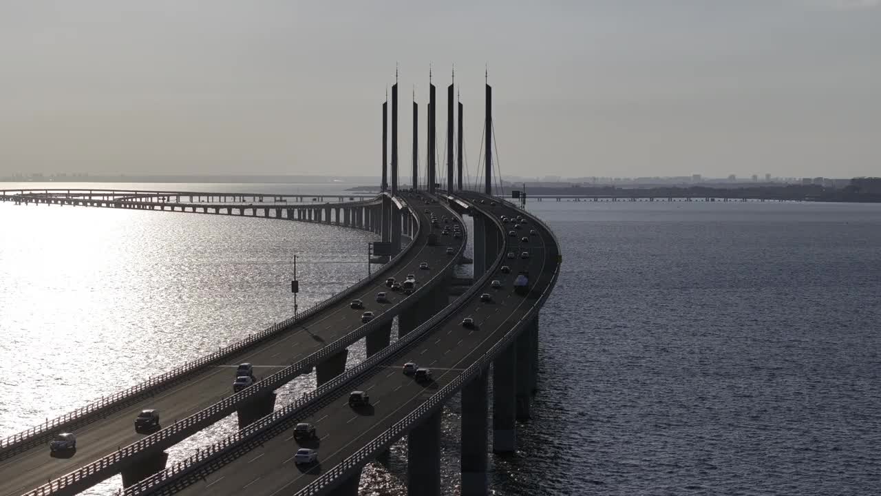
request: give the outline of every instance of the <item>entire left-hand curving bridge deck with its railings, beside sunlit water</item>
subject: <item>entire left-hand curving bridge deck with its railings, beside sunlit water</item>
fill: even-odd
[[[414,199],[415,201],[415,199]],[[380,225],[376,221],[382,216],[379,209],[387,202],[387,197],[379,197],[366,205],[359,202],[357,205],[337,206],[346,207],[367,207],[371,210],[371,214],[367,215],[346,215],[345,218],[351,221],[362,221],[360,227],[369,230],[380,231]],[[404,234],[410,233],[414,237],[413,241],[408,244],[406,250],[400,252],[395,259],[392,259],[383,269],[374,274],[374,277],[357,283],[351,289],[347,289],[343,294],[332,298],[332,301],[325,302],[322,307],[312,314],[300,317],[300,319],[289,319],[277,326],[270,327],[263,331],[262,334],[255,336],[252,340],[236,343],[231,347],[223,350],[226,353],[212,354],[204,357],[196,364],[188,364],[188,366],[180,367],[175,372],[174,378],[177,382],[169,379],[167,374],[163,374],[159,379],[151,380],[136,387],[137,390],[130,391],[130,397],[120,398],[122,401],[106,402],[93,408],[86,408],[80,411],[80,415],[68,415],[62,417],[61,421],[54,422],[50,425],[36,427],[26,435],[19,436],[18,440],[9,444],[4,444],[6,448],[3,452],[4,460],[0,462],[0,471],[5,474],[11,474],[10,477],[3,477],[0,481],[0,494],[18,494],[23,491],[28,493],[65,493],[73,494],[82,491],[86,487],[96,484],[106,477],[109,477],[120,470],[123,471],[123,479],[128,478],[128,483],[133,484],[140,478],[143,478],[155,470],[161,470],[164,466],[164,460],[160,466],[153,463],[150,471],[146,473],[130,473],[130,477],[126,477],[126,467],[131,469],[138,465],[151,465],[150,462],[144,463],[144,459],[156,455],[156,450],[170,446],[182,440],[193,432],[204,429],[219,418],[226,417],[232,411],[238,411],[240,415],[240,425],[248,425],[256,419],[270,414],[272,411],[272,403],[274,402],[274,394],[272,390],[288,380],[299,376],[302,373],[309,372],[315,366],[318,373],[319,382],[327,381],[344,371],[345,358],[347,356],[346,347],[359,339],[367,339],[368,354],[376,349],[381,349],[384,344],[389,342],[389,333],[391,330],[391,319],[395,316],[399,317],[400,326],[403,328],[416,327],[420,322],[418,312],[413,310],[413,306],[417,302],[425,303],[440,300],[439,293],[434,290],[434,286],[443,277],[446,277],[455,259],[462,255],[464,247],[464,239],[454,239],[445,237],[443,242],[438,243],[436,237],[432,236],[431,229],[428,229],[427,215],[443,214],[452,215],[452,213],[436,202],[426,205],[423,212],[418,212],[417,208],[403,204],[405,211],[404,218],[414,219],[414,222],[402,223]],[[325,208],[314,207],[314,208]],[[366,210],[365,210],[366,212]],[[337,216],[337,218],[339,218]],[[329,218],[327,219],[329,220]],[[388,220],[387,220],[388,222]],[[418,250],[416,250],[418,247]],[[454,248],[454,256],[447,254],[447,248]],[[391,294],[388,305],[376,305],[368,303],[372,300],[372,296],[377,289],[386,289],[381,280],[389,275],[394,275],[399,279],[403,279],[403,274],[417,273],[418,264],[427,259],[433,265],[433,273],[437,274],[431,279],[418,285],[418,289],[409,297],[403,295]],[[442,276],[442,277],[441,277]],[[421,274],[420,274],[421,277]],[[446,294],[443,295],[446,299]],[[360,312],[353,312],[348,309],[347,301],[350,297],[361,297],[366,301],[366,306],[376,312],[377,317],[374,321],[364,325],[360,322]],[[357,315],[356,315],[357,314]],[[337,319],[336,317],[341,317]],[[305,317],[305,319],[304,319]],[[311,322],[311,323],[310,323]],[[308,329],[308,332],[302,332]],[[320,342],[315,341],[315,337],[321,339]],[[232,365],[242,361],[252,361],[259,366],[260,361],[254,357],[271,361],[271,351],[278,349],[279,342],[284,343],[288,348],[298,349],[297,353],[292,353],[288,357],[277,359],[278,364],[287,365],[282,371],[257,382],[254,387],[249,387],[245,391],[232,395],[227,398],[223,396],[229,394],[229,380],[214,381],[211,387],[201,387],[198,384],[211,382],[211,378],[219,376],[217,365]],[[324,343],[329,342],[325,345]],[[254,349],[255,347],[259,349]],[[373,348],[373,350],[371,350]],[[253,353],[254,355],[247,355]],[[270,355],[270,357],[267,357]],[[278,355],[278,352],[275,353]],[[262,358],[261,358],[262,357]],[[300,358],[298,360],[298,358]],[[275,365],[275,363],[273,363]],[[221,370],[226,371],[225,368]],[[214,368],[211,368],[211,367]],[[201,367],[201,368],[200,368]],[[308,369],[307,369],[308,367]],[[188,375],[189,374],[189,375]],[[174,391],[162,393],[167,387],[174,382]],[[165,389],[163,389],[165,387]],[[157,400],[155,395],[159,395]],[[124,396],[124,395],[123,395]],[[218,401],[219,398],[223,398]],[[268,400],[271,398],[271,400]],[[128,400],[128,401],[126,401]],[[138,440],[130,444],[132,440],[136,440],[137,436],[131,432],[131,420],[137,411],[141,408],[154,408],[156,402],[166,402],[165,407],[160,409],[166,412],[178,411],[187,413],[196,410],[196,414],[184,418],[181,422],[175,422],[165,429],[148,436],[147,438]],[[256,406],[255,406],[256,405]],[[176,409],[176,410],[175,410]],[[243,410],[246,411],[243,415]],[[242,417],[249,417],[244,423]],[[174,418],[174,417],[173,417]],[[98,425],[92,426],[93,422],[99,421]],[[78,429],[85,429],[80,434],[80,440],[86,441],[84,456],[74,456],[68,461],[57,461],[53,459],[54,465],[47,466],[45,447],[35,447],[41,445],[45,436],[58,432],[59,429],[69,428],[72,423],[80,421]],[[75,431],[77,432],[77,431]],[[82,430],[79,432],[83,432]],[[43,436],[43,438],[41,438]],[[114,448],[121,445],[127,445],[122,449]],[[83,446],[83,445],[81,445]],[[23,448],[23,449],[18,449]],[[96,459],[96,457],[98,457]],[[155,457],[154,457],[155,458]],[[159,455],[161,458],[161,455]],[[94,460],[94,462],[91,462]],[[85,462],[85,465],[83,464]],[[59,477],[62,470],[77,469]],[[135,470],[137,472],[137,470]],[[131,472],[131,470],[130,470]],[[42,481],[52,479],[52,482],[46,485],[38,486]],[[29,489],[36,487],[33,492]]]

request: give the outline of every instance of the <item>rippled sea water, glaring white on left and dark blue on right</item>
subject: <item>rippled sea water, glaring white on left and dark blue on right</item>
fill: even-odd
[[[300,259],[303,306],[322,300],[364,266],[316,262],[360,259],[372,239],[224,216],[11,208],[0,205],[0,330],[14,341],[0,359],[25,360],[39,387],[0,382],[13,400],[0,406],[4,433],[284,319],[294,251],[312,257]],[[534,418],[518,429],[521,451],[491,455],[497,494],[878,493],[879,206],[529,208],[557,232],[564,265],[542,313]],[[285,387],[277,408],[314,385]],[[459,411],[455,399],[444,413],[448,494]],[[232,429],[231,417],[170,461]],[[399,442],[365,470],[362,494],[405,494],[405,470]]]

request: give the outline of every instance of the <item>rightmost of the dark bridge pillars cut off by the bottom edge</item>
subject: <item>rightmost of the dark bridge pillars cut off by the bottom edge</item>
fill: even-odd
[[[486,496],[486,383],[489,369],[462,388],[462,496]]]

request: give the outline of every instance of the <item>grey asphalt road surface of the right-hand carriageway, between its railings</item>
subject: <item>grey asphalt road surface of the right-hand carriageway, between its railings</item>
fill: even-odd
[[[490,207],[489,202],[481,207],[497,215],[517,214],[510,207]],[[529,229],[536,229],[538,236],[530,237]],[[478,293],[473,301],[420,340],[403,357],[389,359],[384,366],[377,368],[377,372],[366,374],[369,377],[365,377],[359,385],[352,386],[352,390],[364,390],[370,395],[370,408],[352,410],[346,391],[328,406],[301,420],[315,425],[315,435],[319,438],[315,444],[308,441],[303,443],[303,447],[317,447],[318,462],[315,466],[310,468],[294,464],[293,455],[300,446],[292,439],[292,430],[287,430],[263,441],[262,447],[241,455],[204,479],[193,477],[195,480],[189,481],[192,484],[181,493],[188,496],[209,492],[212,496],[295,494],[322,471],[343,462],[368,441],[374,440],[381,432],[416,410],[436,390],[455,379],[499,342],[535,303],[535,293],[530,294],[529,298],[515,295],[513,282],[518,271],[529,270],[532,279],[530,287],[544,288],[550,283],[557,251],[555,248],[546,249],[545,244],[552,248],[552,237],[531,223],[517,232],[525,232],[529,244],[521,244],[520,237],[508,238],[509,251],[515,252],[516,259],[505,259],[502,265],[511,267],[511,273],[497,272],[492,276],[492,279],[502,283],[500,289],[491,289],[487,283],[485,289],[480,291],[490,293],[492,303],[481,303]],[[529,252],[529,259],[520,259],[523,251]],[[467,316],[474,318],[477,324],[475,328],[462,327],[461,321]],[[403,364],[410,361],[418,366],[430,367],[433,383],[419,385],[412,376],[403,375]]]

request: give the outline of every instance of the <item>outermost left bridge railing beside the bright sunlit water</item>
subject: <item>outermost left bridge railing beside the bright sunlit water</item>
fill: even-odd
[[[416,218],[418,237],[422,229],[421,222],[419,221],[419,215],[412,212],[411,214],[413,214]],[[413,243],[411,241],[411,243],[408,244],[405,249],[399,252],[393,259],[390,259],[389,263],[386,264],[385,267],[394,266],[397,261],[402,259],[403,256],[406,255],[407,252],[409,252],[412,246]],[[189,376],[193,372],[201,371],[204,368],[211,366],[212,364],[217,364],[219,361],[223,361],[229,357],[233,357],[234,355],[241,353],[245,349],[251,348],[260,342],[270,339],[279,332],[285,331],[292,326],[296,326],[306,319],[310,319],[316,313],[322,312],[329,306],[337,304],[344,299],[351,297],[353,293],[364,289],[367,285],[369,285],[377,278],[381,277],[381,275],[384,273],[385,270],[381,270],[376,274],[373,274],[372,276],[365,277],[359,280],[359,282],[355,282],[354,284],[352,284],[352,286],[350,286],[349,288],[340,291],[333,297],[329,297],[320,304],[312,306],[307,311],[300,313],[296,317],[285,319],[282,322],[273,324],[272,326],[267,327],[258,333],[250,334],[247,338],[239,342],[234,342],[233,344],[227,345],[226,347],[220,348],[218,349],[218,351],[212,352],[209,355],[197,358],[196,360],[190,361],[186,364],[182,364],[168,372],[153,376],[150,379],[145,380],[144,382],[115,393],[114,395],[101,396],[100,400],[98,400],[97,402],[89,403],[84,407],[78,408],[77,410],[70,411],[60,417],[48,420],[41,425],[35,425],[27,429],[26,431],[12,434],[11,436],[8,436],[3,440],[0,440],[0,456],[8,454],[10,451],[20,447],[33,445],[46,438],[48,435],[57,432],[59,429],[70,427],[71,425],[76,425],[80,422],[85,421],[87,418],[100,415],[100,412],[102,412],[103,410],[114,408],[115,406],[130,401],[133,398],[149,393],[154,389],[166,386],[167,384],[172,383],[175,380],[179,380],[185,376]]]

